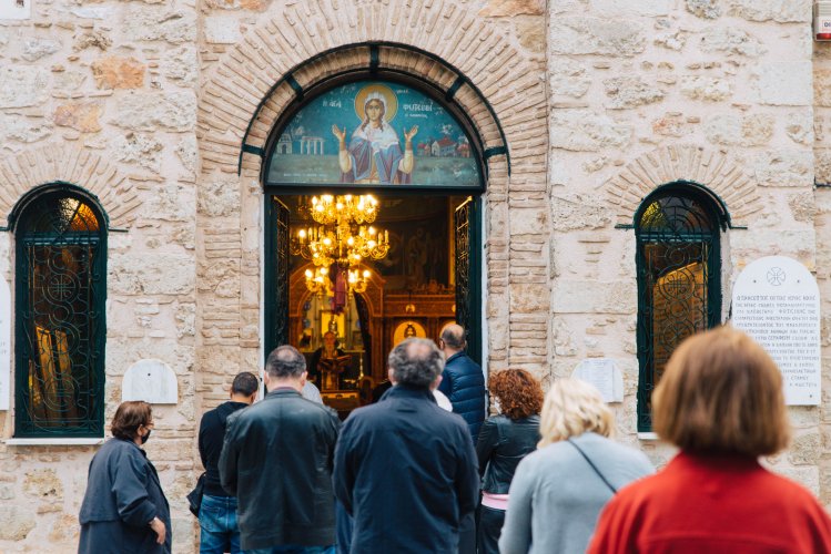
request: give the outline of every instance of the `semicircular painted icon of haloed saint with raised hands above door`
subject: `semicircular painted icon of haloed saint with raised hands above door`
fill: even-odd
[[[458,122],[422,92],[377,81],[335,88],[304,106],[273,147],[267,181],[482,186]]]

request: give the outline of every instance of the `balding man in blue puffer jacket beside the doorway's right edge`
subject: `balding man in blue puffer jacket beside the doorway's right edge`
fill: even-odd
[[[465,352],[467,341],[460,325],[448,325],[442,331],[438,346],[446,360],[438,390],[450,400],[453,413],[467,421],[475,444],[485,421],[485,376],[479,365]]]

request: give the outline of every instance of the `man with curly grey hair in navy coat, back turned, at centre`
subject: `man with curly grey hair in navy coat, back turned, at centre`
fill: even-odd
[[[335,450],[335,494],[354,517],[349,552],[456,554],[479,479],[467,425],[432,392],[442,352],[411,338],[388,365],[394,387],[352,412]]]

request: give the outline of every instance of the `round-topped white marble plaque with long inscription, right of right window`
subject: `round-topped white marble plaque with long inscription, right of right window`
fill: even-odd
[[[805,266],[786,256],[748,265],[733,286],[732,325],[777,362],[789,406],[819,406],[820,293]]]

